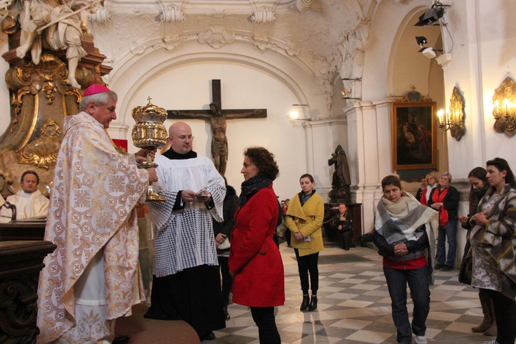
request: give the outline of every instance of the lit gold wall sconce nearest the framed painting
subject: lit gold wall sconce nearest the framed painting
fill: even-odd
[[[444,112],[443,109],[437,111],[439,127],[443,131],[450,131],[450,135],[455,140],[460,140],[466,127],[464,127],[464,99],[457,87],[453,87],[451,94],[450,107]]]

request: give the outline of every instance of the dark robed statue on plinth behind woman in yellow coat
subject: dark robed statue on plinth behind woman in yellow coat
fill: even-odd
[[[332,176],[332,191],[330,191],[331,203],[350,203],[350,168],[347,166],[347,156],[339,144],[332,158],[328,160],[328,165],[335,165],[335,171]]]

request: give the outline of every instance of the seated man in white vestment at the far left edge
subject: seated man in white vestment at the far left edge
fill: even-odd
[[[43,217],[48,213],[48,198],[38,190],[39,175],[36,171],[25,171],[21,175],[21,190],[7,197],[7,202],[16,206],[16,219]],[[12,211],[3,207],[0,211],[2,222],[11,219]]]

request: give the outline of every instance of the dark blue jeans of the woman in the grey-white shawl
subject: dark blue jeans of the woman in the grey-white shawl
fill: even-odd
[[[430,286],[428,266],[415,270],[383,268],[389,295],[391,296],[392,320],[398,330],[398,343],[411,344],[412,333],[424,336],[427,331],[428,313],[430,312]],[[410,297],[414,304],[412,325],[407,311],[407,283]]]

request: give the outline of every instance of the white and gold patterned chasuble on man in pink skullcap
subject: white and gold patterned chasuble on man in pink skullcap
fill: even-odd
[[[98,317],[75,314],[74,286],[100,250],[105,319],[129,316],[131,306],[144,299],[135,206],[144,201],[149,173],[138,169],[134,155],[116,152],[103,125],[89,114],[65,118],[64,129],[45,228],[45,240],[57,248],[45,258],[39,277],[38,343],[55,341],[72,327],[83,327],[88,316]],[[93,320],[92,332],[99,323]]]

